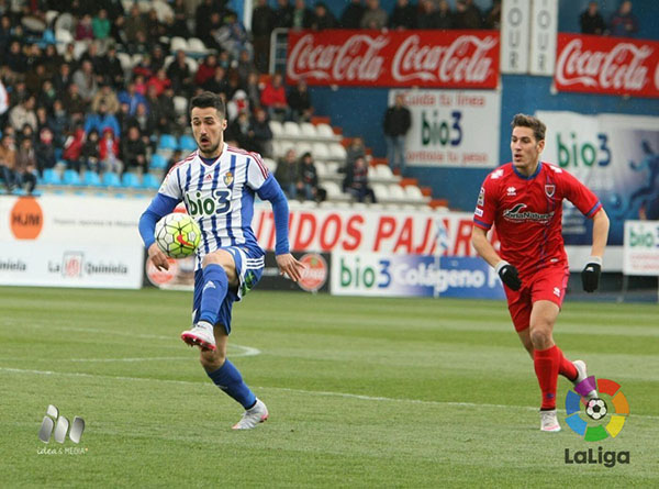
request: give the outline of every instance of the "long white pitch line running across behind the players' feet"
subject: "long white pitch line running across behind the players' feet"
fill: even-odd
[[[210,382],[191,382],[189,380],[169,380],[169,379],[154,379],[146,377],[123,377],[123,376],[105,376],[105,375],[96,375],[96,374],[82,374],[75,371],[54,371],[54,370],[32,370],[32,369],[23,369],[23,368],[9,368],[9,367],[0,367],[0,371],[7,371],[10,374],[36,374],[36,375],[55,375],[63,377],[86,377],[93,379],[116,379],[116,380],[133,380],[133,381],[147,381],[147,382],[165,382],[165,384],[176,384],[183,386],[209,386],[212,385]],[[283,392],[293,392],[301,393],[304,396],[321,396],[321,397],[337,397],[337,398],[347,398],[347,399],[359,399],[362,401],[379,401],[379,402],[406,402],[412,404],[423,404],[423,405],[453,405],[457,408],[488,408],[488,409],[520,409],[525,411],[536,411],[537,407],[530,405],[510,405],[510,404],[488,404],[482,403],[479,404],[477,402],[454,402],[454,401],[424,401],[421,399],[405,399],[405,398],[387,398],[379,396],[364,396],[356,394],[349,392],[332,392],[332,391],[322,391],[322,390],[304,390],[304,389],[290,389],[288,387],[255,387],[255,389],[260,390],[276,390]],[[565,410],[559,410],[565,411]],[[652,416],[647,414],[633,414],[634,418],[644,418],[647,420],[659,420],[659,416]]]

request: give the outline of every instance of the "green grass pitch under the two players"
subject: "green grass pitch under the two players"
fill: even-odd
[[[568,301],[569,358],[621,384],[616,438],[541,433],[503,302],[256,290],[230,358],[270,420],[211,384],[180,332],[191,293],[0,288],[1,487],[658,487],[659,309]],[[571,385],[559,379],[562,408]],[[37,437],[48,404],[79,445]],[[629,464],[566,464],[599,447]],[[69,453],[44,454],[44,449]]]

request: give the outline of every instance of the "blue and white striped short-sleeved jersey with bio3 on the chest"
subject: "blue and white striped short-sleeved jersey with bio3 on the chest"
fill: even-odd
[[[210,165],[196,151],[169,170],[158,193],[183,201],[199,224],[197,268],[206,254],[221,247],[260,248],[252,230],[254,197],[269,175],[260,155],[226,143]]]

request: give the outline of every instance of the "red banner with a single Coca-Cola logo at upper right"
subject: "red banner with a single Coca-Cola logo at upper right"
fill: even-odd
[[[556,88],[659,97],[659,42],[558,34]]]

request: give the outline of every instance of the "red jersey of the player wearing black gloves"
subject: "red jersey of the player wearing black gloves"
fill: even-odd
[[[485,178],[473,224],[485,231],[494,224],[500,256],[521,276],[547,265],[567,266],[561,234],[563,199],[587,218],[602,208],[597,197],[562,168],[540,162],[535,174],[525,177],[507,163]]]

